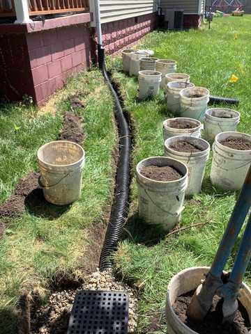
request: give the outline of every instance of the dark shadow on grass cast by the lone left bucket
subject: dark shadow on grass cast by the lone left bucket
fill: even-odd
[[[45,200],[43,189],[33,189],[24,200],[25,207],[30,214],[34,216],[54,220],[70,209],[70,205],[53,205]]]

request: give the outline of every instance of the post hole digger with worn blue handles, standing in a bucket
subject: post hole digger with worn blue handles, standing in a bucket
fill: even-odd
[[[222,282],[222,271],[225,268],[227,259],[234,247],[234,243],[245,222],[245,218],[251,206],[251,166],[243,184],[240,196],[231,214],[227,230],[222,237],[222,241],[215,255],[212,267],[204,280],[192,297],[188,308],[188,317],[195,321],[203,321],[206,313],[211,308],[213,296],[223,297],[222,305],[223,321],[233,321],[238,309],[238,292],[241,289],[243,276],[251,258],[251,214],[248,219],[241,246],[238,250],[234,267],[231,271],[227,283]]]

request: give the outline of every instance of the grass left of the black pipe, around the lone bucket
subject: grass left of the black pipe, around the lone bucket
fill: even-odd
[[[0,333],[17,333],[15,306],[24,290],[45,298],[56,273],[76,273],[88,243],[86,228],[98,223],[112,200],[116,146],[113,102],[98,70],[82,72],[71,79],[54,98],[54,113],[40,115],[33,106],[2,105],[0,110],[0,202],[6,200],[31,170],[38,170],[40,145],[56,140],[70,98],[77,96],[84,108],[75,110],[83,118],[85,134],[83,189],[81,198],[67,209],[54,205],[36,214],[26,210],[8,220],[0,240]],[[50,215],[50,213],[52,215]],[[80,270],[81,271],[81,270]]]

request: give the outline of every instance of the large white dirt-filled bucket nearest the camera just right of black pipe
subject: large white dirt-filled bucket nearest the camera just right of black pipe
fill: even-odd
[[[146,166],[172,166],[183,177],[171,182],[151,180],[141,174]],[[183,211],[185,189],[188,185],[188,168],[179,161],[167,157],[150,157],[137,164],[137,188],[139,216],[150,225],[160,225],[163,230],[172,230],[180,221]]]

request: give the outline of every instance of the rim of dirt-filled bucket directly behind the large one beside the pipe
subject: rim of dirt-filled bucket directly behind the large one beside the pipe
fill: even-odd
[[[185,141],[185,139],[189,139],[190,141],[200,141],[201,143],[204,143],[207,146],[207,148],[205,148],[203,151],[200,151],[200,152],[180,152],[180,151],[173,150],[172,148],[169,147],[169,145],[167,145],[167,144],[169,144],[169,141]],[[188,143],[189,143],[189,141],[188,141]],[[170,153],[172,153],[174,155],[179,155],[179,156],[182,156],[182,157],[190,157],[190,158],[203,157],[206,154],[209,154],[210,150],[211,150],[210,144],[205,139],[197,138],[197,137],[193,137],[193,136],[183,136],[183,135],[167,138],[165,140],[164,146],[165,146],[166,150],[168,150]]]

